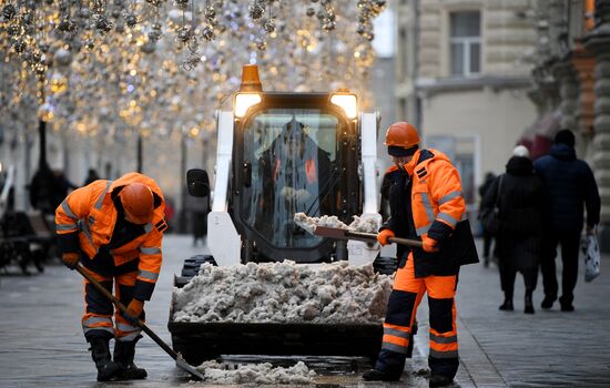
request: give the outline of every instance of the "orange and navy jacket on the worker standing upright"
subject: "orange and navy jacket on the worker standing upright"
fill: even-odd
[[[410,193],[404,191],[403,195],[409,196],[398,198],[398,201],[410,203],[409,214],[407,217],[401,218],[400,223],[404,225],[396,225],[396,219],[393,218],[395,218],[395,213],[399,211],[396,207],[400,207],[400,204],[397,205],[397,201],[390,198],[393,216],[385,227],[389,227],[395,232],[401,231],[403,235],[397,234],[399,237],[421,239],[424,236],[429,236],[441,243],[443,255],[457,254],[456,252],[443,249],[443,243],[450,239],[458,223],[466,219],[466,202],[461,193],[458,171],[444,153],[433,149],[418,150],[413,160],[405,165],[405,169],[410,180],[408,184]],[[398,175],[398,167],[389,167],[386,174]],[[470,247],[472,241],[454,243],[458,246]],[[448,263],[439,255],[429,255],[421,249],[413,249],[413,253],[416,258],[416,277],[448,275],[455,269],[439,268],[441,263]]]

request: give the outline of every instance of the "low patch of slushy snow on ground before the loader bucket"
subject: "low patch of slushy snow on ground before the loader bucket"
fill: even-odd
[[[303,361],[288,368],[273,367],[268,363],[240,365],[237,369],[227,369],[225,364],[205,361],[197,367],[204,374],[203,382],[214,384],[256,384],[256,385],[305,385],[313,382],[316,376]]]

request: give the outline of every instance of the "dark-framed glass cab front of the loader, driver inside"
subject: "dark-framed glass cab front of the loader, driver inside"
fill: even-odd
[[[362,213],[357,121],[327,93],[260,93],[234,121],[231,213],[242,262],[315,263],[336,243],[295,225],[295,213]]]

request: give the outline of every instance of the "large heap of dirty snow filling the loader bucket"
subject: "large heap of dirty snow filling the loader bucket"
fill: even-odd
[[[174,288],[175,321],[378,323],[386,313],[392,278],[373,265],[347,262],[306,265],[203,264],[183,288]]]

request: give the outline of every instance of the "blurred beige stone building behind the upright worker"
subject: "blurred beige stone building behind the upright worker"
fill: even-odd
[[[397,2],[396,115],[457,164],[469,208],[537,118],[528,0]]]

